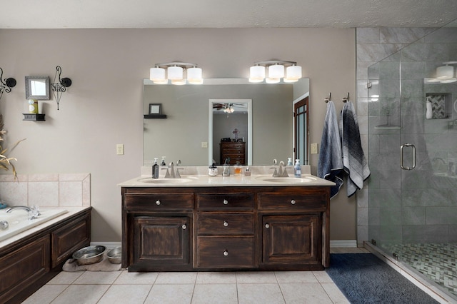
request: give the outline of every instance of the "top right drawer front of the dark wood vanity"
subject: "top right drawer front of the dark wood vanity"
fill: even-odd
[[[258,193],[259,209],[326,209],[325,193]]]

